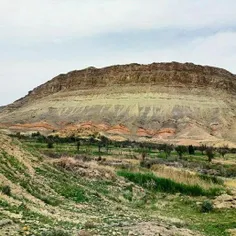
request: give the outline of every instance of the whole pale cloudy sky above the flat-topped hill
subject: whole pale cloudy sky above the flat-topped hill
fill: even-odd
[[[89,66],[193,62],[236,74],[235,0],[0,0],[0,106]]]

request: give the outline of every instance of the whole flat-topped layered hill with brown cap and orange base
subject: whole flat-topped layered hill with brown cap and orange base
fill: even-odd
[[[0,127],[117,140],[236,143],[236,75],[192,63],[60,74],[0,110]]]

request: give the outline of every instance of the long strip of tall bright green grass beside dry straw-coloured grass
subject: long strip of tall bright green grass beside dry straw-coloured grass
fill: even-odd
[[[218,188],[206,190],[199,185],[187,185],[177,183],[170,179],[159,178],[151,172],[140,173],[120,170],[117,174],[119,176],[123,176],[131,182],[134,182],[135,184],[156,192],[166,192],[171,194],[181,193],[190,196],[215,196],[220,192],[220,189]]]

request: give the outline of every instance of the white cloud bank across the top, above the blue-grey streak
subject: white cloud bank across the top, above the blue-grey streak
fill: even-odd
[[[27,42],[130,29],[234,26],[236,1],[1,0],[0,38]]]

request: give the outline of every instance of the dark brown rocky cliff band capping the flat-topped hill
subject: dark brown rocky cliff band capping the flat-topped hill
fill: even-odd
[[[29,95],[43,97],[59,91],[138,84],[211,87],[236,92],[236,75],[220,68],[177,62],[89,67],[60,74]]]

